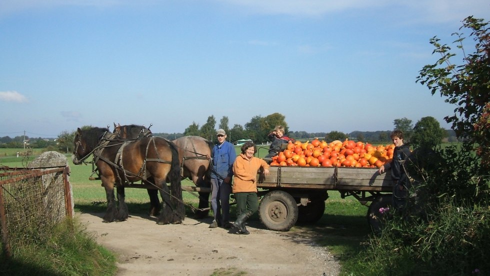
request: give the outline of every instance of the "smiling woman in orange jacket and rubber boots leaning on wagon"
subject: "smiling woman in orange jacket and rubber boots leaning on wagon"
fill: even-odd
[[[268,175],[270,167],[263,159],[254,157],[255,152],[255,144],[246,142],[233,163],[233,194],[237,217],[233,226],[245,235],[250,234],[245,228],[246,220],[258,210],[257,171],[262,168],[263,173]]]

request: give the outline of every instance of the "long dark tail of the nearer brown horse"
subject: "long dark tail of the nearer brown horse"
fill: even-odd
[[[170,151],[172,152],[172,162],[170,167],[170,189],[173,197],[171,197],[170,202],[175,206],[175,210],[184,219],[185,217],[185,207],[182,202],[182,187],[180,186],[180,160],[178,159],[177,146],[170,140],[167,140]]]

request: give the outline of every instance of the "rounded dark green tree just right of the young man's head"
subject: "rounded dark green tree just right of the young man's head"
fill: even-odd
[[[440,145],[446,131],[434,117],[423,117],[413,127],[410,142],[413,147],[434,148]]]

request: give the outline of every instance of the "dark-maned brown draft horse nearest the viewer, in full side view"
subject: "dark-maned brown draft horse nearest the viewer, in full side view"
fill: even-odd
[[[78,128],[73,139],[73,164],[79,165],[93,155],[107,198],[103,222],[125,221],[128,218],[124,189],[114,186],[143,181],[152,185],[163,199],[157,224],[179,224],[185,218],[180,186],[180,167],[175,144],[162,137],[144,137],[133,141],[115,139],[108,128]],[[171,195],[166,185],[170,182]],[[157,190],[155,190],[157,191]]]

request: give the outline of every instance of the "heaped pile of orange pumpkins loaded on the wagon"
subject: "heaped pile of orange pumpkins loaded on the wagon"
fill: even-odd
[[[291,142],[272,157],[271,166],[356,167],[379,168],[391,161],[394,145],[373,146],[369,143],[335,140],[330,143],[313,139],[311,142]]]

